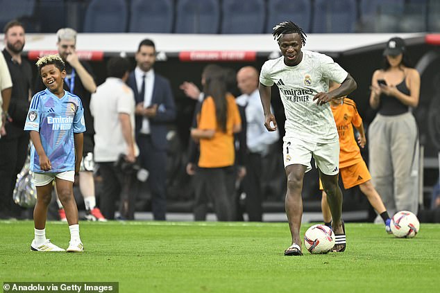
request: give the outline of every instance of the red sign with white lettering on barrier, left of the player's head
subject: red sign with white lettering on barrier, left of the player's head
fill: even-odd
[[[183,51],[180,61],[255,61],[255,51]]]

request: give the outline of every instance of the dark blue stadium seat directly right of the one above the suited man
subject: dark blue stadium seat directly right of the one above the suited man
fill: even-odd
[[[178,0],[174,33],[219,33],[219,0]]]

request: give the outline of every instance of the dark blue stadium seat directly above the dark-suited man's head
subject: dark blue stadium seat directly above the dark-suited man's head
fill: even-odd
[[[171,33],[173,0],[131,0],[130,33]]]

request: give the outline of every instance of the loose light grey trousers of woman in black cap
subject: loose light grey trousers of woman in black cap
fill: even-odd
[[[369,127],[369,170],[391,217],[398,211],[417,214],[418,157],[418,129],[411,113],[374,118]]]

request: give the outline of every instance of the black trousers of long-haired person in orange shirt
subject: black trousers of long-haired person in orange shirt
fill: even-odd
[[[197,168],[194,175],[196,197],[194,220],[205,221],[208,203],[212,202],[219,221],[235,219],[235,168]]]

